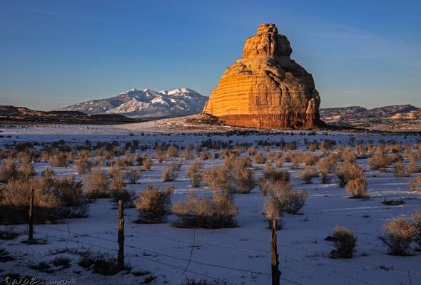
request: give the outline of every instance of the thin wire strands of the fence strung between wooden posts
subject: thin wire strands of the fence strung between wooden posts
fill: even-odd
[[[29,211],[29,209],[25,209],[25,208],[21,208],[21,207],[13,207],[13,206],[8,206],[8,205],[0,205],[0,207],[6,208],[6,209],[16,209],[16,210],[25,211],[25,212]],[[34,210],[34,213],[49,216],[49,217],[54,217],[54,219],[64,219],[64,220],[66,219],[66,217],[61,217],[59,215],[49,214],[49,213],[40,212],[40,211],[36,211],[36,210]],[[156,222],[156,221],[145,220],[145,222]],[[111,227],[111,226],[104,225],[104,224],[96,224],[96,223],[90,223],[89,225],[95,226],[95,227],[102,227],[102,228],[106,228],[106,229],[113,229],[113,231],[116,231],[116,228],[117,228],[117,227]],[[71,234],[76,235],[76,236],[83,236],[83,238],[87,238],[87,239],[99,240],[99,241],[102,241],[102,242],[117,243],[116,239],[107,239],[107,238],[104,238],[104,237],[93,236],[91,234],[71,231],[68,223],[66,223],[66,229],[58,229],[56,227],[52,227],[51,225],[46,225],[46,224],[37,224],[36,227],[41,228],[41,229],[48,229],[48,231],[49,231],[47,233],[48,237],[53,237],[53,238],[58,239],[59,241],[63,241],[63,242],[65,241],[66,242],[66,250],[67,250],[67,247],[68,247],[68,243],[72,242],[72,243],[75,243],[75,244],[86,245],[88,247],[95,247],[95,248],[99,248],[99,249],[106,249],[108,251],[118,252],[118,249],[116,249],[116,248],[105,247],[101,244],[93,244],[93,243],[86,242],[86,241],[82,242],[81,240],[72,239]],[[168,234],[166,236],[164,236],[164,235],[160,235],[160,234],[156,234],[156,233],[153,233],[153,234],[147,233],[146,229],[142,229],[141,232],[139,232],[135,229],[131,229],[131,228],[124,229],[125,232],[130,232],[132,234],[138,234],[138,235],[143,235],[143,236],[146,235],[148,237],[172,240],[174,242],[181,242],[181,243],[184,243],[184,244],[189,244],[191,249],[190,249],[188,258],[176,257],[172,254],[168,254],[168,253],[164,253],[164,252],[158,252],[156,250],[148,249],[146,247],[139,247],[138,245],[133,245],[133,244],[130,244],[130,243],[127,243],[127,242],[125,242],[125,244],[124,244],[125,247],[128,247],[128,248],[132,249],[133,251],[139,251],[139,252],[142,252],[142,253],[148,252],[150,254],[156,255],[157,257],[165,257],[167,259],[183,261],[183,262],[186,263],[185,266],[176,266],[174,264],[171,264],[171,263],[168,263],[168,262],[165,262],[165,261],[161,261],[161,260],[156,260],[156,259],[153,259],[151,257],[146,257],[144,255],[126,254],[125,256],[143,259],[143,260],[146,260],[146,261],[151,261],[151,262],[156,263],[156,264],[161,264],[163,266],[168,266],[168,267],[171,267],[173,269],[178,269],[179,271],[181,271],[181,274],[185,274],[186,272],[189,272],[191,274],[196,274],[198,276],[202,276],[202,277],[205,277],[207,279],[213,279],[215,281],[220,281],[220,282],[223,282],[225,284],[236,284],[236,283],[234,283],[233,281],[220,279],[220,278],[215,277],[215,276],[210,276],[209,274],[204,274],[202,272],[193,271],[193,270],[189,269],[189,265],[190,264],[197,264],[198,266],[224,269],[224,270],[228,270],[228,271],[237,271],[237,272],[242,272],[242,273],[260,275],[260,276],[263,276],[265,278],[270,278],[271,274],[261,272],[261,271],[238,268],[238,267],[233,267],[233,266],[224,266],[224,265],[221,265],[221,264],[212,264],[212,263],[209,263],[209,262],[194,260],[193,259],[193,249],[196,247],[196,245],[197,245],[196,243],[198,242],[198,240],[196,238],[196,232],[195,231],[197,231],[198,228],[197,227],[187,227],[187,228],[193,229],[193,242],[192,241],[186,241],[186,240],[183,240],[183,239],[174,239],[172,237],[168,237]],[[206,230],[206,229],[203,229],[203,230]],[[51,232],[62,232],[64,234],[66,234],[66,237],[58,237],[54,234],[51,234]],[[228,233],[228,232],[224,232],[223,230],[218,230],[218,234],[224,234],[224,235],[230,236],[230,237],[237,237],[237,238],[242,239],[242,240],[252,240],[254,242],[270,244],[270,240],[256,239],[255,237],[247,237],[247,236],[239,235],[239,234],[231,234],[231,233]],[[223,248],[223,249],[229,249],[229,250],[234,250],[234,251],[258,252],[258,253],[261,253],[261,254],[270,254],[270,251],[265,251],[265,250],[261,250],[261,249],[250,249],[250,248],[247,248],[247,247],[236,247],[236,246],[233,246],[231,244],[223,244],[223,243],[215,243],[215,242],[213,242],[213,243],[203,243],[203,242],[201,242],[200,244],[206,245],[206,246],[209,246],[209,247],[220,247],[220,248]],[[294,249],[294,250],[299,250],[299,251],[302,251],[302,252],[307,252],[309,254],[317,254],[317,252],[313,252],[313,251],[310,251],[308,249],[303,249],[301,247],[290,246],[288,244],[278,244],[278,245],[279,245],[280,248],[285,247],[285,248],[290,248],[290,249]],[[318,264],[313,264],[309,261],[304,261],[304,260],[298,259],[296,257],[291,257],[287,254],[279,254],[279,255],[280,255],[280,257],[283,257],[285,260],[296,261],[300,264],[305,264],[306,266],[310,266],[310,267],[313,267],[313,268],[316,268],[316,269],[320,269],[321,271],[325,271],[328,274],[334,274],[336,276],[340,276],[340,278],[343,278],[343,279],[356,281],[358,284],[374,285],[370,281],[362,280],[362,279],[359,279],[355,276],[350,276],[348,274],[343,274],[343,273],[340,273],[338,271],[325,268],[324,266],[320,266]],[[343,262],[335,261],[335,259],[333,259],[333,261],[335,262],[335,264],[338,264],[338,265],[344,264]],[[374,266],[373,268],[379,269],[379,270],[382,270],[381,267],[383,266],[382,264],[373,264],[373,263],[370,263],[370,262],[359,261],[359,260],[355,260],[355,259],[352,259],[352,263],[363,264],[365,266]],[[347,262],[346,264],[350,264],[350,262]],[[354,264],[354,266],[362,269],[362,271],[366,270],[365,266],[360,266],[360,265],[357,265],[357,264]],[[269,266],[268,266],[268,268],[269,268]],[[398,272],[400,274],[408,274],[409,276],[410,276],[410,274],[415,275],[415,276],[421,276],[421,274],[418,273],[418,272],[396,268],[395,266],[390,266],[389,270]],[[285,282],[288,282],[290,284],[304,285],[304,284],[300,283],[299,281],[287,279],[283,276],[281,276],[280,279],[285,281]]]

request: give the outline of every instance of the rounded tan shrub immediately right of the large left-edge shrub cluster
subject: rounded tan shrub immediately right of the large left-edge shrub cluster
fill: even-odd
[[[83,178],[83,193],[89,199],[106,198],[110,196],[109,179],[106,172],[93,169]]]

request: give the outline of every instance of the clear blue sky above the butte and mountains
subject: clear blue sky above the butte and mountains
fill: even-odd
[[[0,0],[0,105],[53,110],[130,88],[209,95],[261,23],[323,108],[421,107],[421,1]]]

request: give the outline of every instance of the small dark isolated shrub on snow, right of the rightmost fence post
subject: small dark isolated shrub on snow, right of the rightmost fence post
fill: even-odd
[[[332,234],[333,249],[330,251],[330,257],[339,259],[350,259],[354,255],[357,237],[354,232],[345,227],[337,226]]]

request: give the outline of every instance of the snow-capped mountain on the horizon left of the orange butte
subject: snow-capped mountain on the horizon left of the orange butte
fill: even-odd
[[[160,92],[131,89],[112,98],[77,103],[60,110],[121,114],[132,118],[176,117],[201,113],[206,100],[208,97],[185,87]]]

